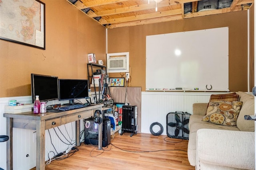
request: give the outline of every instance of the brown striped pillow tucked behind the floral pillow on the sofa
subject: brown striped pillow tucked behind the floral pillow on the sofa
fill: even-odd
[[[236,92],[227,93],[227,94],[212,94],[210,96],[210,101],[208,103],[208,106],[209,106],[210,102],[214,102],[214,101],[228,101],[228,102],[239,101],[239,95],[236,94]],[[205,115],[206,115],[206,113],[205,113]]]

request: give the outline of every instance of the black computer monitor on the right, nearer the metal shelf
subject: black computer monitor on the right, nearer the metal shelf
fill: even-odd
[[[74,100],[88,97],[88,80],[59,79],[59,100]]]

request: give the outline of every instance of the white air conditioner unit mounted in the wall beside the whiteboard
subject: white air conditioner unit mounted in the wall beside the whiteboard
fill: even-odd
[[[129,53],[107,54],[108,72],[129,72]]]

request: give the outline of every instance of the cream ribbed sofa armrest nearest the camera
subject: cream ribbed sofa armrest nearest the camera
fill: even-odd
[[[255,170],[254,145],[254,132],[199,129],[196,134],[196,167],[201,170],[209,167]]]

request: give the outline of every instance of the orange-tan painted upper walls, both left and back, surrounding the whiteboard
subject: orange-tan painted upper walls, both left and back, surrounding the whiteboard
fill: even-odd
[[[87,54],[106,63],[106,29],[66,0],[46,4],[46,50],[0,40],[0,97],[30,96],[30,74],[87,79]],[[247,11],[108,29],[108,53],[130,52],[130,87],[146,89],[146,35],[229,27],[230,91],[247,91]],[[201,38],[201,37],[200,37]],[[201,38],[202,41],[209,41]],[[219,68],[221,69],[221,68]],[[111,73],[110,77],[124,77]]]

